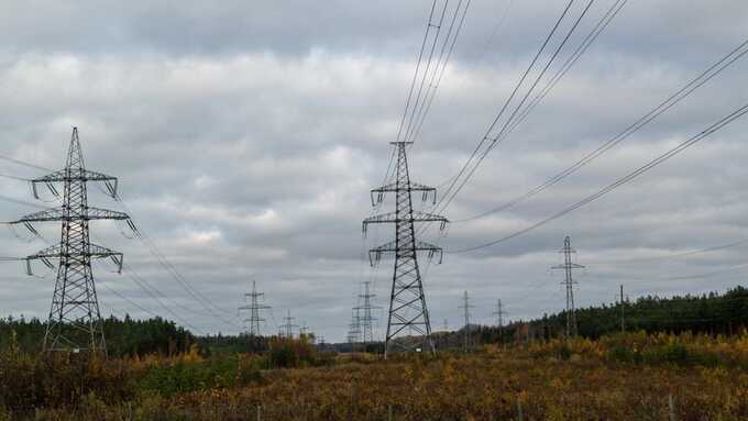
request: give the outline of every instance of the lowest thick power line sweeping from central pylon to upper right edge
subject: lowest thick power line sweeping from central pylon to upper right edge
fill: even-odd
[[[745,106],[738,108],[737,110],[733,111],[732,113],[727,114],[726,117],[722,118],[721,120],[718,120],[714,124],[710,125],[708,128],[704,129],[703,131],[701,131],[696,135],[694,135],[694,136],[690,137],[689,140],[680,143],[678,146],[671,148],[670,151],[666,152],[664,154],[656,157],[654,159],[650,160],[649,163],[647,163],[647,164],[642,165],[641,167],[635,169],[634,171],[627,174],[626,176],[624,176],[620,179],[616,180],[615,182],[608,185],[607,187],[601,189],[600,191],[595,192],[594,195],[587,196],[586,198],[578,201],[576,203],[574,203],[574,204],[572,204],[572,206],[570,206],[570,207],[568,207],[568,208],[565,208],[565,209],[563,209],[563,210],[539,221],[539,222],[536,222],[530,226],[527,226],[522,230],[516,231],[516,232],[514,232],[509,235],[503,236],[498,240],[494,240],[494,241],[491,241],[491,242],[487,242],[487,243],[483,243],[483,244],[480,244],[480,245],[475,245],[475,246],[472,246],[472,247],[462,248],[462,250],[458,250],[458,251],[453,251],[453,252],[449,252],[449,253],[468,253],[468,252],[473,252],[473,251],[476,251],[476,250],[480,250],[480,248],[490,247],[492,245],[496,245],[498,243],[503,243],[503,242],[506,242],[508,240],[512,240],[516,236],[526,234],[526,233],[528,233],[528,232],[530,232],[530,231],[532,231],[537,228],[540,228],[540,226],[547,224],[548,222],[551,222],[553,220],[557,220],[557,219],[565,215],[566,213],[573,212],[576,209],[582,208],[583,206],[607,195],[608,192],[610,192],[610,191],[617,189],[618,187],[620,187],[620,186],[631,181],[632,179],[637,178],[641,174],[650,170],[651,168],[653,168],[653,167],[662,164],[663,162],[670,159],[671,157],[678,155],[679,153],[683,152],[684,149],[691,147],[692,145],[696,144],[697,142],[704,140],[705,137],[710,136],[711,134],[715,133],[716,131],[728,125],[733,121],[745,115],[747,112],[748,112],[748,104],[745,104]]]

